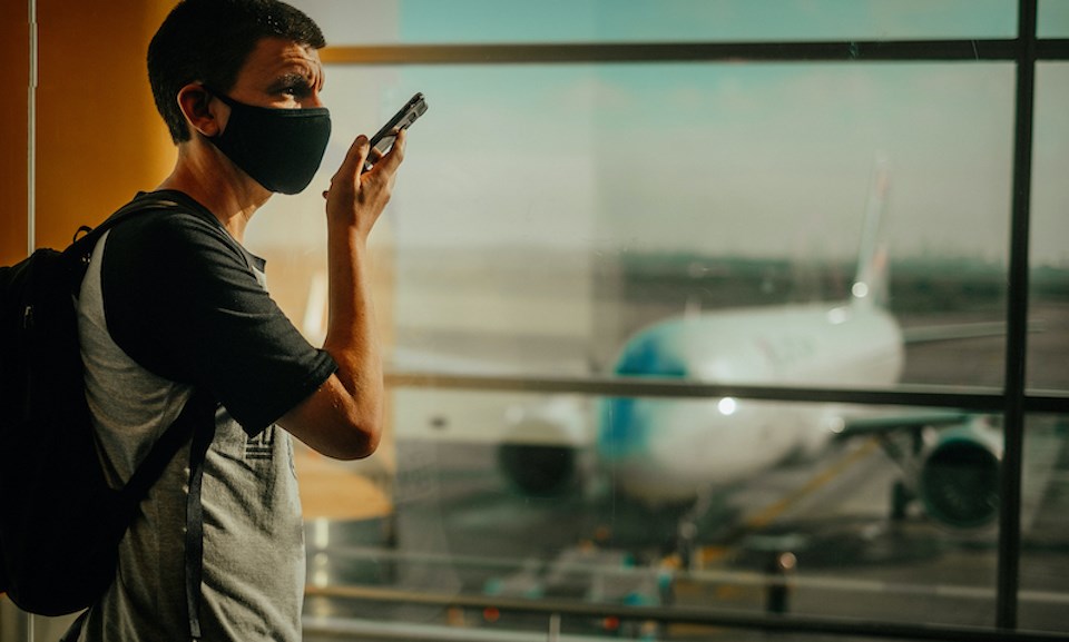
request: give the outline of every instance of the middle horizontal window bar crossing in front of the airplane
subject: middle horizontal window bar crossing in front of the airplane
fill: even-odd
[[[842,403],[953,407],[965,411],[1000,412],[1006,399],[1000,389],[948,386],[899,386],[886,391],[756,386],[661,379],[654,377],[563,377],[517,375],[465,375],[439,372],[391,372],[386,384],[406,388],[450,388],[483,392],[580,394],[611,397],[675,397],[765,399],[803,403]],[[1027,395],[1029,413],[1069,413],[1069,394]]]

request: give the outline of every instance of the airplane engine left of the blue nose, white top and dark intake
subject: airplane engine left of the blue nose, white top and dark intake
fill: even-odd
[[[586,477],[586,422],[572,398],[511,408],[509,431],[498,448],[501,473],[524,495],[558,496],[576,488]]]

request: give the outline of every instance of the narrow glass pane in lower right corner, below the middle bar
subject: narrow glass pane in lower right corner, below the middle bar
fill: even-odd
[[[1024,433],[1021,487],[1022,629],[1069,630],[1069,416],[1036,415]]]

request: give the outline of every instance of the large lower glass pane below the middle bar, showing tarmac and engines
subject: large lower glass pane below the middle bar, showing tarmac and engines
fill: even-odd
[[[717,402],[416,388],[394,401],[393,513],[310,524],[310,618],[546,630],[547,615],[504,608],[344,599],[357,586],[993,625],[1001,435],[990,417],[885,443],[811,433],[783,458],[788,435],[805,433],[785,421],[798,407],[739,402],[713,422],[702,406]],[[640,417],[656,426],[648,439]],[[950,518],[978,507],[973,523]],[[618,624],[569,618],[562,631]]]

